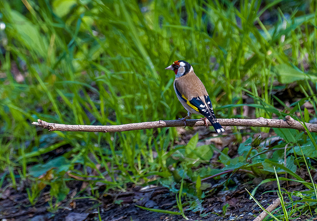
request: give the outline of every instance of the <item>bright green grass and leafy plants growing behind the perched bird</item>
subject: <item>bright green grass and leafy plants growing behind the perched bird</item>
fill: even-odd
[[[187,146],[175,147],[175,128],[105,134],[48,132],[31,125],[38,118],[116,125],[185,116],[172,87],[174,76],[164,70],[177,59],[193,65],[219,118],[249,117],[243,114],[246,105],[254,108],[254,117],[298,118],[306,101],[315,113],[305,113],[305,119],[316,117],[316,1],[275,0],[262,6],[256,0],[23,2],[26,6],[18,0],[0,2],[6,25],[0,30],[0,172],[5,171],[0,184],[5,179],[16,187],[21,179],[30,179],[31,204],[38,182],[50,185],[51,197],[62,200],[69,191],[65,180],[71,178],[66,172],[90,180],[92,168],[98,174],[93,178],[106,183],[107,190],[124,189],[131,182],[171,187],[184,174],[197,180],[220,172],[204,167],[213,145],[196,148],[197,136]],[[276,20],[263,21],[260,16],[267,12]],[[294,96],[301,98],[293,104],[275,96],[290,83],[296,83]],[[252,103],[245,104],[246,97]],[[238,141],[246,135],[233,131]],[[299,147],[304,156],[317,158],[311,145],[315,134],[274,129],[285,142],[272,150],[295,144],[282,167],[283,151],[273,152],[272,159],[258,155],[265,149],[252,140],[260,131],[268,132],[252,128],[253,138],[240,145],[239,158],[231,159],[228,148],[221,152],[224,170],[243,168],[274,177],[276,166],[278,174],[287,168],[296,175],[296,168],[305,166]],[[62,156],[43,158],[59,149],[65,150]],[[41,178],[48,173],[54,178]],[[94,189],[96,181],[89,182]],[[193,202],[205,196],[185,182],[184,191]],[[98,191],[92,192],[98,197]]]

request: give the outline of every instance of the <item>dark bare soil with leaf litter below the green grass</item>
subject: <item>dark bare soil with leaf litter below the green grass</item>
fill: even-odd
[[[262,181],[261,178],[245,181],[247,175],[235,174],[231,178],[235,180],[237,186],[231,190],[223,191],[222,188],[213,188],[210,194],[205,197],[203,213],[193,213],[186,211],[188,206],[184,206],[185,215],[189,220],[201,221],[227,221],[239,220],[250,221],[258,216],[262,211],[253,200],[249,199],[249,194],[245,190],[252,191],[254,187]],[[224,180],[217,180],[221,183]],[[243,182],[242,182],[243,181]],[[208,182],[208,180],[207,180]],[[217,186],[215,181],[210,181],[213,186]],[[71,189],[68,197],[61,202],[58,210],[48,212],[49,192],[43,191],[41,197],[34,207],[29,205],[27,194],[9,187],[2,192],[0,198],[0,219],[2,221],[93,221],[98,219],[98,208],[103,221],[181,221],[185,220],[179,215],[168,215],[146,211],[136,207],[140,205],[148,208],[162,209],[177,212],[175,195],[171,194],[165,187],[151,187],[148,189],[141,187],[130,187],[127,192],[106,193],[99,200],[96,199],[71,199],[77,188],[83,185],[83,181],[71,181],[68,187]],[[286,183],[282,183],[286,186]],[[269,190],[276,190],[276,183],[269,182],[260,186],[255,195],[256,199],[266,208],[277,198],[276,191],[264,193]],[[298,183],[289,183],[288,191],[304,190]],[[44,189],[45,190],[45,189]],[[261,193],[264,193],[261,195]],[[88,194],[87,194],[88,195]],[[85,193],[79,194],[85,197]],[[286,197],[284,198],[284,200]],[[296,200],[296,198],[294,198]],[[286,199],[287,201],[287,199]],[[120,205],[115,202],[120,202]],[[185,201],[184,201],[185,202]],[[223,206],[229,204],[225,215],[222,214]],[[317,220],[309,215],[302,215],[301,220]]]

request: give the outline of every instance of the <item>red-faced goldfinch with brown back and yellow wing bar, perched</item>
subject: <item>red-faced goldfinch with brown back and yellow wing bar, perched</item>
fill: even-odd
[[[185,60],[176,60],[165,69],[175,72],[174,90],[178,100],[188,111],[187,116],[179,118],[184,121],[185,126],[186,119],[192,113],[202,114],[205,118],[201,119],[204,120],[206,127],[208,119],[217,134],[224,133],[225,130],[214,115],[208,92],[203,82],[195,74],[192,65]]]

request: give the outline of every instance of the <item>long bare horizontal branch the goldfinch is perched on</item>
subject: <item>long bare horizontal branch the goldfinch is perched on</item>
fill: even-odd
[[[294,120],[291,116],[286,116],[285,120],[282,119],[265,119],[259,117],[257,119],[218,119],[222,126],[246,126],[246,127],[270,127],[270,128],[292,128],[305,131],[305,128],[301,122]],[[86,131],[86,132],[118,132],[129,130],[144,130],[152,128],[162,127],[183,127],[184,122],[182,120],[159,120],[152,122],[141,123],[128,123],[122,125],[70,125],[59,123],[48,123],[44,120],[38,119],[38,122],[32,124],[48,129],[49,131]],[[204,126],[204,121],[186,120],[187,126]],[[211,126],[211,123],[208,122]],[[306,126],[311,132],[317,132],[317,124],[306,123]]]

